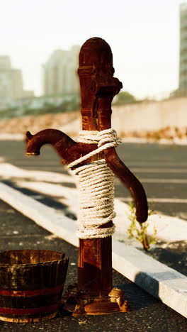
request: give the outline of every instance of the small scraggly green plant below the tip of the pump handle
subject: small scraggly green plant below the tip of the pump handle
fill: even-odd
[[[142,243],[142,246],[145,251],[150,248],[150,245],[157,243],[157,229],[154,227],[154,233],[152,236],[147,235],[147,228],[149,223],[146,221],[145,223],[139,223],[137,221],[135,215],[135,205],[130,202],[129,203],[129,219],[130,219],[130,226],[128,228],[128,236],[129,238],[135,238],[137,241]],[[154,214],[154,211],[149,210],[149,216]]]

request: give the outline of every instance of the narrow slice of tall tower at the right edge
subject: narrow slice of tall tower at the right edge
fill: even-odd
[[[187,93],[187,4],[180,6],[179,92]]]

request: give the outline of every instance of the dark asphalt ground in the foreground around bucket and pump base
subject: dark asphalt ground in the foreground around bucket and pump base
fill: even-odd
[[[4,201],[0,201],[0,218],[0,250],[33,248],[63,251],[69,256],[67,284],[77,281],[77,248],[53,236]],[[130,313],[72,318],[60,312],[55,319],[38,323],[16,324],[0,321],[0,331],[186,331],[186,319],[183,316],[115,270],[113,270],[113,286],[125,291],[125,298],[130,301],[132,308]]]

